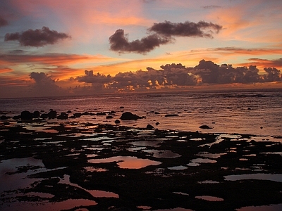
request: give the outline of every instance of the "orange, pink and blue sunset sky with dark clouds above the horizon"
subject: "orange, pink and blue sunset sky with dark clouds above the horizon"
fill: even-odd
[[[0,98],[282,88],[281,0],[0,0]]]

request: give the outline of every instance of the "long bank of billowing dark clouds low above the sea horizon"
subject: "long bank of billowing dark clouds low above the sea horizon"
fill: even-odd
[[[88,91],[146,91],[196,86],[201,84],[250,84],[257,82],[281,82],[281,71],[276,68],[264,68],[265,74],[259,75],[255,65],[233,68],[232,65],[200,60],[194,68],[182,64],[161,65],[161,69],[147,68],[135,72],[119,72],[115,76],[94,74],[85,70],[85,75],[73,78],[78,82],[91,84]],[[89,88],[85,86],[83,89]]]

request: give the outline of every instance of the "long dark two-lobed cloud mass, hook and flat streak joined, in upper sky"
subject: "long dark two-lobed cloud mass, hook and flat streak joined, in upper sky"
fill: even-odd
[[[222,29],[221,25],[200,21],[193,23],[186,21],[185,23],[154,23],[148,28],[149,34],[142,39],[128,41],[128,34],[124,30],[116,30],[109,37],[110,49],[119,53],[147,53],[156,47],[168,44],[174,41],[174,37],[208,37],[213,38],[214,32],[219,33]]]

